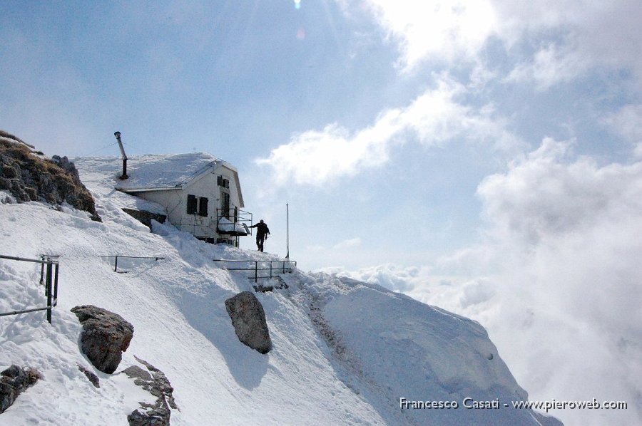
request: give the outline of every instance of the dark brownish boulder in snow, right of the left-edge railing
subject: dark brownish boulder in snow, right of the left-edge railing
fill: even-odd
[[[83,325],[81,349],[88,360],[103,373],[116,371],[133,338],[133,326],[117,313],[93,305],[76,306],[71,312]]]

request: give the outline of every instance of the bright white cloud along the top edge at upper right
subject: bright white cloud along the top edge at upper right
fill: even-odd
[[[365,4],[387,37],[397,42],[404,71],[424,61],[477,63],[486,42],[497,38],[518,58],[526,52],[520,42],[535,48],[532,56],[520,61],[511,80],[532,81],[542,90],[595,66],[631,68],[642,78],[638,0],[366,0]],[[543,41],[548,42],[539,46]]]

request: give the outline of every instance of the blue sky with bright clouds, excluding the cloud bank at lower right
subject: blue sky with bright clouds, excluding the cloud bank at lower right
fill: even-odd
[[[638,105],[639,37],[604,58],[591,31],[633,2],[413,3],[6,2],[2,127],[49,155],[117,155],[120,130],[129,155],[222,157],[282,254],[290,204],[310,269],[477,241],[477,186],[544,137],[627,161],[603,118]]]

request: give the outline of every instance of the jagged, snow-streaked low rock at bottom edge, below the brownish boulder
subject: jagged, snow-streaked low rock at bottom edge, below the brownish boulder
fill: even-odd
[[[177,410],[172,395],[174,388],[161,370],[135,357],[146,369],[132,365],[122,371],[133,379],[134,383],[156,397],[156,401],[139,402],[141,407],[127,416],[130,426],[165,426],[170,424],[170,407]]]

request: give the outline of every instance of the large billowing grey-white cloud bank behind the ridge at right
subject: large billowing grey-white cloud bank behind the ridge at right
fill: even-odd
[[[550,413],[566,424],[639,424],[642,162],[599,166],[573,145],[546,139],[481,182],[489,228],[477,246],[415,274],[352,277],[480,321],[531,400],[628,402]]]

